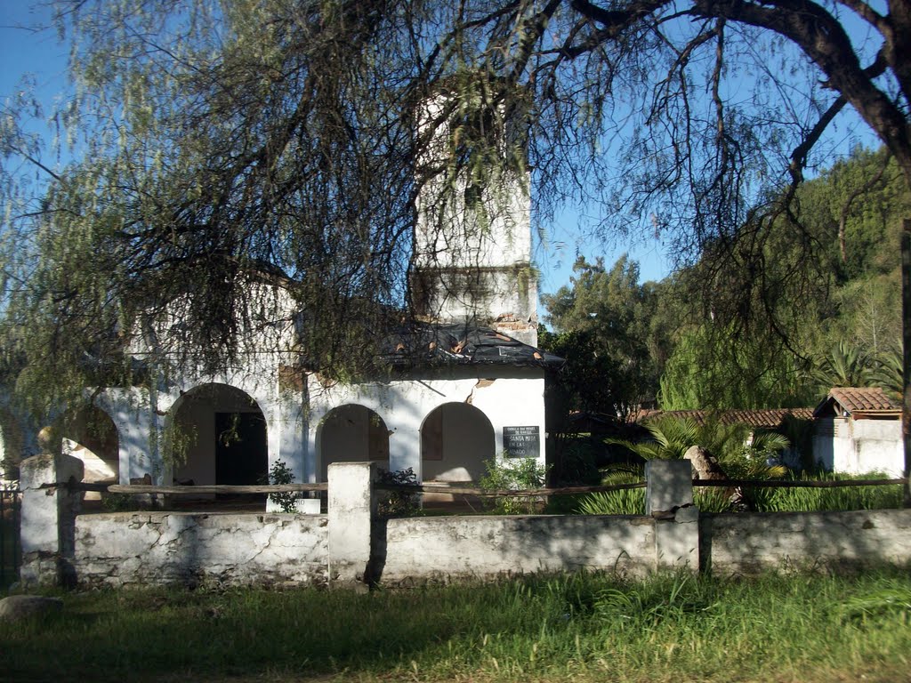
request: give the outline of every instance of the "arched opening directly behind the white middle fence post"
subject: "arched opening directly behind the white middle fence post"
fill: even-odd
[[[363,405],[333,408],[322,418],[317,434],[322,482],[330,463],[374,461],[389,469],[389,431],[377,413]]]

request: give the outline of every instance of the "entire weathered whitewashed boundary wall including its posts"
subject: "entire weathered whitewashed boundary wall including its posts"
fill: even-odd
[[[384,521],[376,515],[373,463],[331,465],[328,515],[76,515],[65,486],[41,488],[66,481],[66,456],[30,460],[22,510],[26,585],[363,588],[578,569],[641,576],[680,568],[911,564],[911,510],[700,515],[688,461],[649,464],[647,515]]]

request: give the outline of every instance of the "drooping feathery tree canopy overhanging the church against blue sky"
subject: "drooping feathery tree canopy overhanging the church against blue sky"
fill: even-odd
[[[736,236],[760,244],[748,265],[844,107],[911,184],[904,1],[54,6],[74,79],[54,120],[76,156],[46,160],[26,100],[0,127],[4,348],[53,385],[177,297],[187,343],[230,362],[251,280],[308,311],[313,362],[355,362],[407,307],[415,206],[438,178],[483,191],[530,171],[538,225],[586,200],[602,234],[719,262],[746,252]]]

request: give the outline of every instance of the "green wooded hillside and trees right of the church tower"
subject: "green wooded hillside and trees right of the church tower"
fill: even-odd
[[[579,258],[570,284],[542,297],[542,346],[571,362],[563,403],[622,417],[813,405],[832,386],[897,395],[907,217],[894,161],[858,148],[807,182],[790,214],[732,230],[665,280],[640,283],[626,256]]]

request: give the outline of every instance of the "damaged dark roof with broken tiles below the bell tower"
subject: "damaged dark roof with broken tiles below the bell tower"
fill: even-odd
[[[501,364],[558,369],[566,362],[489,327],[419,321],[392,332],[382,355],[399,366]]]

